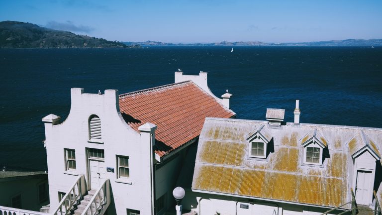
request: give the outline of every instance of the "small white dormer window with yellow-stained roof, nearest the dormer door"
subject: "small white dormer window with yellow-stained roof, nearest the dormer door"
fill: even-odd
[[[322,165],[327,141],[316,128],[301,139],[301,145],[304,147],[304,164]]]

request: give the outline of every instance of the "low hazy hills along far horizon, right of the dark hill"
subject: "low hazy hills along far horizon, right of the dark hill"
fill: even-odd
[[[126,45],[140,46],[382,46],[382,39],[347,39],[330,40],[319,42],[300,42],[300,43],[264,43],[259,41],[249,42],[217,42],[217,43],[165,43],[165,42],[123,42]]]

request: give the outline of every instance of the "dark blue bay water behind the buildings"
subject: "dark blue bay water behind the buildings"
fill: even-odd
[[[65,118],[70,88],[120,93],[174,82],[174,72],[208,72],[237,118],[285,108],[293,120],[382,127],[382,47],[156,47],[0,50],[0,164],[46,169],[41,118]]]

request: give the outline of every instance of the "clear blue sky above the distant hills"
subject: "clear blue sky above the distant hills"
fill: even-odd
[[[382,0],[0,0],[13,20],[117,41],[382,38]]]

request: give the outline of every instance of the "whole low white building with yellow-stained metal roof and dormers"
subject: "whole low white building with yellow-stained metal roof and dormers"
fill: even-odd
[[[296,106],[294,123],[270,108],[267,121],[206,118],[185,207],[198,215],[320,215],[340,206],[331,212],[339,214],[352,207],[353,190],[357,207],[374,209],[382,129],[299,123]]]

